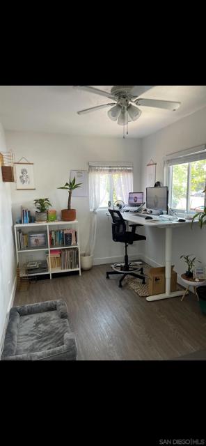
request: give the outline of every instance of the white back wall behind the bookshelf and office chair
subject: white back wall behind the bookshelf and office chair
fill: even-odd
[[[13,149],[15,160],[26,157],[34,163],[35,190],[16,190],[12,186],[13,220],[20,215],[20,206],[28,206],[35,213],[33,200],[49,197],[53,208],[61,212],[67,208],[68,192],[58,190],[69,179],[71,169],[88,169],[88,161],[130,161],[134,163],[134,190],[141,187],[141,141],[107,137],[70,137],[63,134],[35,132],[6,132],[8,148]],[[72,208],[77,209],[81,252],[88,241],[88,197],[72,197]],[[134,256],[142,251],[142,242],[129,247]],[[111,220],[100,211],[97,217],[95,263],[122,256],[124,247],[111,239]],[[138,255],[138,254],[137,254]]]

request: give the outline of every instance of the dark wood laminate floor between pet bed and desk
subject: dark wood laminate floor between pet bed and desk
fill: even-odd
[[[81,276],[40,280],[17,291],[14,305],[63,298],[78,360],[168,360],[206,348],[206,316],[196,296],[148,302],[118,277],[106,279],[110,265]]]

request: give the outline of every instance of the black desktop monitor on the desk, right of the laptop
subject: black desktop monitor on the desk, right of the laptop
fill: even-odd
[[[168,187],[147,187],[146,206],[148,209],[163,210],[168,213]]]

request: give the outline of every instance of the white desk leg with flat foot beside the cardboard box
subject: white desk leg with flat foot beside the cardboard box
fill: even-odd
[[[149,295],[146,298],[149,302],[152,300],[161,300],[168,298],[176,298],[178,295],[184,294],[184,290],[171,291],[171,261],[172,261],[172,240],[173,240],[173,229],[171,227],[166,228],[166,240],[165,240],[165,293]]]

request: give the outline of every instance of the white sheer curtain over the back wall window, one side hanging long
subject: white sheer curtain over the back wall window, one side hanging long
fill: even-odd
[[[110,177],[117,199],[127,203],[128,194],[133,190],[132,163],[89,163],[90,234],[86,246],[86,256],[93,255],[95,249],[97,210],[104,203]]]

